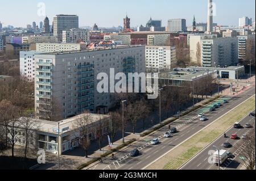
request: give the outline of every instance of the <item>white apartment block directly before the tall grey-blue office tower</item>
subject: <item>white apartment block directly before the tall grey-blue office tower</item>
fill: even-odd
[[[63,43],[77,43],[78,41],[90,42],[90,33],[85,29],[71,29],[62,32]]]

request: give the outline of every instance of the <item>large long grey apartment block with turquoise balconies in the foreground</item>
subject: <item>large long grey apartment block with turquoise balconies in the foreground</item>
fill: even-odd
[[[145,72],[144,56],[143,46],[36,54],[36,115],[47,119],[53,106],[63,119],[84,110],[107,112],[113,106],[113,94],[97,91],[102,81],[97,75],[110,77],[110,69],[125,74]]]

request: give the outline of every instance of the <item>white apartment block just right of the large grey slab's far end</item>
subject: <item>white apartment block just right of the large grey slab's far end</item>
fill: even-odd
[[[175,46],[146,46],[147,69],[172,69],[176,62]]]

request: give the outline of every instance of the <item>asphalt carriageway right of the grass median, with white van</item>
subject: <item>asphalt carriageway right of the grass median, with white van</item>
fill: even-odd
[[[254,110],[255,113],[255,110]],[[230,128],[228,132],[226,132],[226,138],[224,136],[221,136],[218,138],[216,141],[212,142],[207,148],[205,148],[203,151],[201,151],[200,154],[196,155],[193,159],[191,159],[189,162],[187,162],[183,167],[181,167],[181,170],[216,170],[218,169],[218,166],[209,163],[208,160],[210,161],[210,150],[215,150],[213,148],[213,145],[217,146],[219,149],[224,149],[230,151],[230,153],[238,153],[234,161],[232,159],[228,159],[226,162],[224,162],[221,165],[221,169],[238,169],[241,167],[241,164],[239,163],[239,153],[241,151],[240,143],[242,142],[241,137],[243,134],[246,134],[250,131],[251,128],[245,128],[245,124],[249,123],[251,125],[255,125],[255,118],[246,116],[240,121],[241,125],[243,128],[241,129],[236,129],[236,128]],[[229,137],[231,134],[237,134],[238,138],[237,140],[232,140]],[[231,148],[224,148],[222,144],[224,142],[229,142],[232,144]],[[239,146],[238,146],[239,145]]]

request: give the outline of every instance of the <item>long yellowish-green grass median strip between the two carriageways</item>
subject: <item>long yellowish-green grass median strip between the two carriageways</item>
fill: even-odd
[[[175,149],[158,159],[147,170],[176,170],[179,169],[185,162],[191,159],[194,155],[199,153],[201,149],[207,146],[210,142],[215,140],[221,133],[230,128],[234,123],[240,120],[243,116],[255,108],[255,95],[247,99],[240,106],[234,108],[226,115],[217,119],[214,123],[204,128],[202,131],[189,138],[183,144],[177,146]]]

